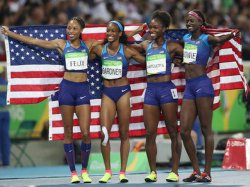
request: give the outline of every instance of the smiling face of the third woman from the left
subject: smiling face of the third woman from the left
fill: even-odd
[[[166,28],[157,19],[152,19],[149,24],[149,33],[153,40],[164,35]]]

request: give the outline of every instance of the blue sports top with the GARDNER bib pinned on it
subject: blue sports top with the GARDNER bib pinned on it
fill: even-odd
[[[107,50],[108,43],[104,45],[102,51],[102,77],[104,79],[119,79],[126,77],[128,72],[129,61],[124,54],[124,45],[120,44],[120,48],[115,55],[110,55]]]

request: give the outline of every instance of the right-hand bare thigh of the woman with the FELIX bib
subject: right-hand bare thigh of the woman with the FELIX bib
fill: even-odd
[[[90,129],[90,105],[76,106],[76,115],[78,118],[81,132],[89,132]]]

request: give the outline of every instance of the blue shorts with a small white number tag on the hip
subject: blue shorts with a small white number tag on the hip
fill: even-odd
[[[147,83],[144,104],[161,105],[165,103],[177,103],[177,89],[172,81]]]

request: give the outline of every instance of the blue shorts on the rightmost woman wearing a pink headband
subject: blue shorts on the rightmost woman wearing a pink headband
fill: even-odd
[[[198,97],[214,97],[212,81],[207,75],[186,80],[183,99],[196,99]]]

